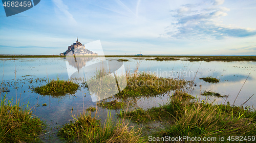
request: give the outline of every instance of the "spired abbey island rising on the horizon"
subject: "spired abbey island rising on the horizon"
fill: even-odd
[[[86,46],[78,41],[78,38],[76,38],[76,43],[70,45],[68,50],[60,53],[59,55],[67,55],[69,52],[71,52],[70,55],[98,55],[97,53],[86,49]]]

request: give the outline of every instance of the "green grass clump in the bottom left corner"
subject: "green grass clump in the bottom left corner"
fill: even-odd
[[[19,106],[5,97],[0,103],[0,142],[39,141],[43,122],[32,115],[28,104]]]

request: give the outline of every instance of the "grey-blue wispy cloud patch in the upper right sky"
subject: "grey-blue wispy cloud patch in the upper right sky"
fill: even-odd
[[[226,7],[220,7],[224,0],[210,4],[187,4],[171,11],[176,19],[168,26],[165,36],[170,38],[223,39],[225,37],[249,37],[256,35],[252,28],[222,24],[221,18],[227,16]]]

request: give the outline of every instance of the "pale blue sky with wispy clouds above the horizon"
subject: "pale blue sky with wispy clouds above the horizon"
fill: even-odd
[[[9,17],[1,3],[0,54],[59,54],[77,37],[105,55],[256,55],[256,1],[42,0]]]

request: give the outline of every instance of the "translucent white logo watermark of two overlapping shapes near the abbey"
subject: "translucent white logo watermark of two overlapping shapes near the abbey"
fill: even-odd
[[[109,98],[127,85],[123,62],[106,60],[100,40],[72,49],[66,55],[66,65],[69,78],[86,79],[93,102]]]

